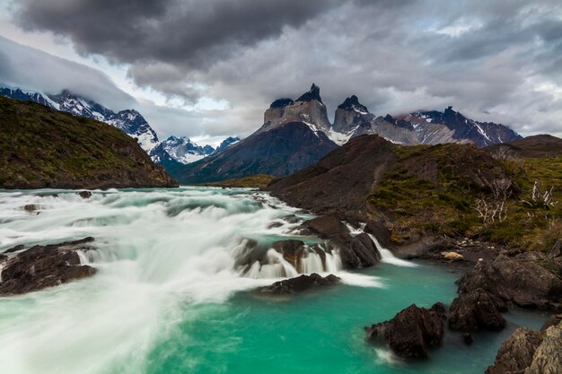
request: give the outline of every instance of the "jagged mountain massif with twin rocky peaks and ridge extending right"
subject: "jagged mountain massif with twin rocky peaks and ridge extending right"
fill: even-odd
[[[320,88],[312,83],[310,91],[296,100],[273,101],[264,114],[264,124],[232,147],[188,165],[166,167],[174,178],[187,184],[251,174],[285,176],[312,165],[359,135],[380,135],[403,145],[458,143],[478,147],[522,138],[507,126],[475,121],[452,107],[443,112],[377,117],[355,95],[338,106],[331,124]]]

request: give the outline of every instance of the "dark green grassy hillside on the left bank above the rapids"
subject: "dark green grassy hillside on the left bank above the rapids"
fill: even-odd
[[[101,122],[0,97],[0,187],[173,187],[136,140]]]

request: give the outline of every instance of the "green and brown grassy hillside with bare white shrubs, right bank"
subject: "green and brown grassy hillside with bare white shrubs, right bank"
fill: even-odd
[[[396,244],[470,237],[542,250],[562,237],[562,156],[497,159],[458,144],[394,152],[397,163],[367,201],[374,215],[388,217]],[[550,204],[544,203],[547,191]]]

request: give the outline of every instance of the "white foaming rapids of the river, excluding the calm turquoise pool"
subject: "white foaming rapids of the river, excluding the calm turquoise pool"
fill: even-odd
[[[27,204],[36,210],[24,210]],[[0,372],[136,373],[146,352],[185,318],[186,305],[223,302],[298,273],[382,285],[342,272],[336,253],[322,259],[310,251],[295,269],[269,249],[267,264],[237,265],[248,239],[267,248],[290,238],[298,223],[282,218],[291,213],[242,189],[94,191],[89,199],[73,191],[0,192],[0,252],[92,236],[96,250],[83,260],[98,269],[87,280],[0,300]],[[127,364],[116,369],[115,362]]]

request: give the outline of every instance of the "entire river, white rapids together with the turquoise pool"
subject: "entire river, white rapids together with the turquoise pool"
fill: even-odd
[[[0,299],[0,372],[480,373],[516,326],[542,322],[511,312],[500,334],[477,335],[471,346],[449,334],[428,361],[397,360],[365,343],[363,327],[412,303],[450,302],[459,274],[383,248],[383,262],[368,270],[343,272],[336,253],[322,262],[312,251],[295,269],[268,251],[298,237],[287,214],[310,218],[246,189],[109,190],[89,199],[74,191],[0,192],[0,252],[92,236],[96,250],[83,259],[99,270]],[[266,260],[244,265],[252,242]],[[249,292],[312,271],[344,283],[284,298]]]

